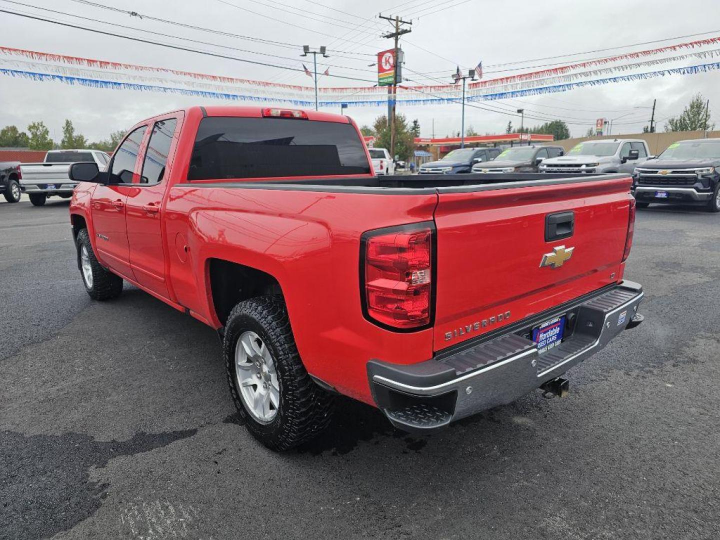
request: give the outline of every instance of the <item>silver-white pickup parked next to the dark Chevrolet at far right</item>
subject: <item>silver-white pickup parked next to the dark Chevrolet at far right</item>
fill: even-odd
[[[541,173],[631,173],[650,155],[642,139],[588,140],[575,145],[567,156],[546,159]]]

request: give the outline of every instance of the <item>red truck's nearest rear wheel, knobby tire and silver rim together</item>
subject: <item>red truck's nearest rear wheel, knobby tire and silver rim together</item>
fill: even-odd
[[[282,297],[236,305],[225,326],[222,354],[235,406],[265,446],[290,449],[330,423],[333,397],[307,374]]]

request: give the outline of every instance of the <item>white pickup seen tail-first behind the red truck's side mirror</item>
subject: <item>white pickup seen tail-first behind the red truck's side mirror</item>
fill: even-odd
[[[68,170],[78,161],[94,161],[104,171],[110,156],[101,150],[50,150],[42,163],[20,165],[20,189],[35,206],[42,206],[53,195],[69,199],[77,182],[68,179]]]

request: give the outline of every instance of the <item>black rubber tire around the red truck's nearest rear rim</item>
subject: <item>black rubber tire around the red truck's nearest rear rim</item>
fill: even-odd
[[[235,348],[248,331],[268,346],[279,383],[279,407],[267,423],[248,412],[235,370]],[[222,355],[235,407],[248,431],[269,449],[281,451],[302,444],[330,423],[333,396],[321,389],[302,365],[282,297],[256,297],[236,305],[225,325]]]

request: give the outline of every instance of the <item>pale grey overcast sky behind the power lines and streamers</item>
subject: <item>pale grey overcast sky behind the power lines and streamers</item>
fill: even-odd
[[[376,0],[363,2],[349,0],[95,1],[151,17],[224,30],[233,34],[297,45],[305,43],[312,46],[326,45],[333,51],[330,53],[330,58],[325,60],[331,66],[330,73],[369,81],[321,77],[320,86],[372,86],[376,77],[374,67],[368,66],[374,61],[372,54],[392,45],[391,40],[379,37],[380,33],[390,30],[387,22],[377,19],[377,14],[381,11],[383,14],[399,14],[401,17],[413,19],[412,33],[401,38],[401,45],[405,50],[405,74],[418,81],[420,76],[410,73],[409,70],[432,73],[433,77],[449,82],[449,76],[455,71],[457,64],[464,68],[472,68],[478,60],[482,60],[486,66],[485,78],[490,78],[522,73],[522,71],[489,73],[499,69],[490,67],[495,64],[513,63],[506,68],[528,68],[528,71],[533,71],[529,66],[544,64],[548,60],[518,62],[710,32],[706,35],[654,45],[639,45],[608,51],[608,53],[590,53],[552,60],[572,63],[585,58],[644,50],[720,35],[720,17],[718,17],[720,1],[718,0],[683,2],[677,0],[652,2],[395,0],[390,3]],[[99,22],[82,21],[57,13],[42,12],[7,0],[0,0],[0,9],[38,14],[41,17],[65,20],[114,33],[174,42],[186,47],[216,50],[238,58],[295,68],[300,68],[301,62],[307,65],[312,63],[311,59],[308,61],[300,58],[300,50],[295,48],[197,32],[131,17],[130,14],[88,6],[78,0],[22,0],[22,2],[68,14],[81,14]],[[171,9],[168,9],[168,6],[171,6]],[[651,6],[652,9],[648,9]],[[391,9],[393,7],[395,9]],[[0,21],[3,29],[0,45],[6,47],[290,84],[312,84],[310,78],[303,73],[280,68],[170,50],[157,45],[96,35],[5,13],[0,13]],[[125,24],[138,30],[121,30],[117,27],[108,27],[102,22]],[[189,37],[214,45],[225,45],[285,58],[173,41],[171,38],[149,35],[144,31],[164,32],[176,37]],[[354,53],[354,57],[343,57],[342,52],[345,51]],[[720,60],[690,59],[679,65],[689,66],[715,61]],[[649,69],[665,67],[667,66]],[[433,84],[426,78],[423,78],[422,82]],[[650,107],[655,98],[657,98],[656,119],[660,120],[658,127],[662,130],[665,119],[680,113],[693,94],[698,92],[710,99],[711,121],[720,125],[718,113],[720,71],[580,88],[559,94],[525,96],[498,103],[507,109],[524,107],[528,116],[541,114],[543,117],[566,120],[569,124],[577,122],[570,124],[570,130],[573,136],[581,136],[588,127],[594,125],[594,119],[598,117],[616,119],[616,127],[613,128],[615,134],[641,131],[648,123],[650,111],[649,108],[635,107]],[[191,104],[212,103],[217,104],[220,101],[172,94],[89,89],[62,83],[35,82],[0,76],[0,127],[14,124],[25,129],[30,122],[43,120],[55,140],[61,138],[61,127],[66,118],[73,121],[78,132],[86,135],[89,140],[95,140],[107,138],[109,132],[127,129],[138,120],[153,114]],[[348,109],[348,114],[360,124],[372,124],[372,120],[384,112],[384,107]],[[433,135],[433,120],[434,135],[438,137],[460,129],[460,106],[456,104],[399,107],[398,112],[406,114],[409,120],[417,118],[423,136]],[[466,109],[466,126],[472,125],[481,134],[504,132],[508,120],[512,120],[515,127],[520,124],[519,118],[505,114],[474,108]],[[526,117],[526,126],[539,123],[542,122]]]

